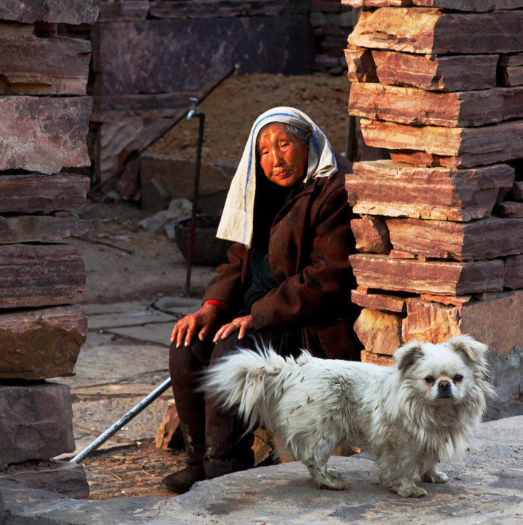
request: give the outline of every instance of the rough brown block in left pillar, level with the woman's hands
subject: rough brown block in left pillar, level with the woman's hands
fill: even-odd
[[[0,378],[34,380],[75,374],[87,337],[87,316],[81,306],[0,313],[0,326]]]

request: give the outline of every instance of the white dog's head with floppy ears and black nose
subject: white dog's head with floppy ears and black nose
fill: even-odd
[[[394,354],[402,382],[429,403],[461,402],[486,375],[486,345],[458,336],[434,345],[412,341]]]

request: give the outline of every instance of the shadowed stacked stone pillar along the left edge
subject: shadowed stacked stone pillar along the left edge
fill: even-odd
[[[0,478],[88,495],[81,467],[51,461],[73,452],[68,385],[87,319],[81,249],[65,238],[92,226],[91,44],[57,37],[57,24],[92,24],[97,1],[0,1]]]

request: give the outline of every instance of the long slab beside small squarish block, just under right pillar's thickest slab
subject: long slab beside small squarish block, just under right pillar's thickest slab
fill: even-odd
[[[491,217],[473,222],[387,219],[395,250],[431,258],[493,259],[523,254],[523,219]]]

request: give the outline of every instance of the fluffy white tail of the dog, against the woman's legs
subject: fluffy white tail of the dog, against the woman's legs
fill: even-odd
[[[309,359],[310,354],[305,351],[295,360],[284,358],[269,347],[258,347],[258,352],[240,349],[209,367],[202,388],[225,408],[237,406],[248,430],[258,422],[267,430],[274,430],[274,407],[285,379]]]

